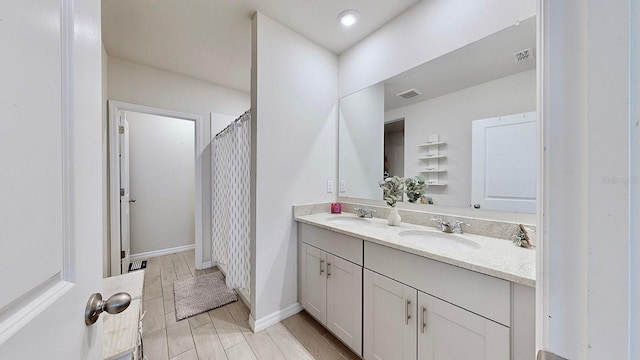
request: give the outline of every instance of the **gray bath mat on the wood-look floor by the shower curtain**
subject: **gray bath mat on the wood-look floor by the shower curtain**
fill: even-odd
[[[173,292],[178,320],[238,301],[235,291],[227,288],[219,271],[176,281]]]

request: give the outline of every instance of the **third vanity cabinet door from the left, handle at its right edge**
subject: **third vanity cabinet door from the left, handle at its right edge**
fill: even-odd
[[[417,358],[417,290],[364,270],[364,358]]]

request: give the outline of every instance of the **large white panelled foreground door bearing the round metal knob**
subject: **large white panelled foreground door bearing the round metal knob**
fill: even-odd
[[[0,359],[98,359],[100,1],[0,2]]]

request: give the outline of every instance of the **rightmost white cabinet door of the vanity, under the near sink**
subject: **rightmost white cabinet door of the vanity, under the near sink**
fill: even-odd
[[[509,328],[418,292],[419,360],[508,360]]]

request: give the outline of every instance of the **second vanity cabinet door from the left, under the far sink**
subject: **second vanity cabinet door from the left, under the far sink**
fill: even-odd
[[[362,355],[362,267],[327,254],[327,327]]]

